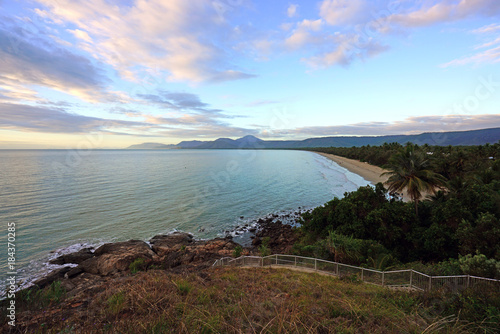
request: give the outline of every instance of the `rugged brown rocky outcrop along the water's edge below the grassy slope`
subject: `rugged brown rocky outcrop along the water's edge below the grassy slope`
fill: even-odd
[[[242,255],[258,255],[258,246],[265,237],[269,237],[268,246],[273,253],[289,251],[296,240],[290,225],[272,219],[261,220],[253,247],[243,248]],[[43,288],[60,280],[69,295],[88,293],[129,275],[130,264],[137,259],[142,259],[141,270],[154,266],[164,270],[199,272],[217,259],[232,256],[237,246],[239,244],[229,237],[195,240],[191,234],[180,232],[155,236],[149,244],[140,240],[108,243],[94,252],[86,248],[52,260],[52,264],[78,266],[57,269],[35,284]]]

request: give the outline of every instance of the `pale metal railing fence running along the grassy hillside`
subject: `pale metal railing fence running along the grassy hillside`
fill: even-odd
[[[429,276],[413,269],[380,271],[295,255],[273,254],[265,257],[241,256],[236,259],[232,257],[224,257],[215,261],[213,265],[295,267],[303,270],[335,275],[338,277],[356,275],[361,281],[366,283],[393,288],[409,288],[420,291],[445,289],[450,292],[458,292],[474,286],[490,286],[500,289],[500,280],[491,278],[470,275]]]

